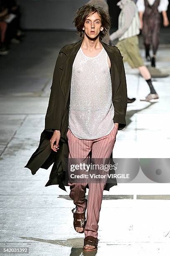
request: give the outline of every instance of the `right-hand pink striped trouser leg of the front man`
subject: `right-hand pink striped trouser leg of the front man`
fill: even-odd
[[[116,141],[117,127],[114,126],[112,131],[102,138],[93,140],[92,142],[92,160],[93,164],[103,164],[103,159],[110,163],[110,156],[112,154],[113,147]],[[108,162],[109,161],[109,162]],[[94,172],[93,172],[94,173]],[[96,174],[98,171],[95,172]],[[99,171],[100,173],[100,171]],[[107,172],[102,172],[102,174],[107,174]],[[107,181],[107,175],[105,179],[101,182],[96,182],[95,178],[89,178],[89,192],[88,192],[88,203],[87,203],[87,223],[85,225],[85,237],[93,236],[97,238],[98,233],[98,221],[102,203],[103,189]],[[90,246],[85,246],[85,248],[92,248]]]

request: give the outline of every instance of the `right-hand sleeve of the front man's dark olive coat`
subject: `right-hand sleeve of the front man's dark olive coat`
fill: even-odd
[[[120,54],[120,58],[122,59],[122,55]],[[117,91],[114,93],[113,97],[113,106],[115,109],[115,114],[113,121],[114,123],[119,123],[118,130],[122,130],[126,126],[126,109],[127,109],[127,85],[126,85],[126,76],[125,76],[125,68],[123,61],[122,69],[120,73],[120,84],[117,88]]]

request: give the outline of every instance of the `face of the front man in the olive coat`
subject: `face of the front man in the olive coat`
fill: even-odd
[[[85,19],[84,27],[82,29],[85,31],[86,36],[92,39],[96,38],[100,31],[103,31],[101,18],[97,12],[87,16]]]

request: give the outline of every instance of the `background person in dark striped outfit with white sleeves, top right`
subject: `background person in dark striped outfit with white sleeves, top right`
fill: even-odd
[[[144,39],[146,59],[151,60],[155,67],[155,57],[160,42],[160,13],[163,15],[163,25],[167,27],[168,0],[138,0],[137,7],[140,14],[140,23]],[[153,46],[153,57],[150,58],[150,45]]]

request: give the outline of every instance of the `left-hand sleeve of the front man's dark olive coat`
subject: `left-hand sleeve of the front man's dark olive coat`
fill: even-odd
[[[64,113],[64,94],[60,86],[60,75],[62,70],[60,69],[60,63],[63,62],[61,52],[59,52],[55,69],[52,77],[52,85],[50,98],[48,102],[47,113],[45,115],[45,130],[54,132],[55,130],[60,131],[62,116]]]

